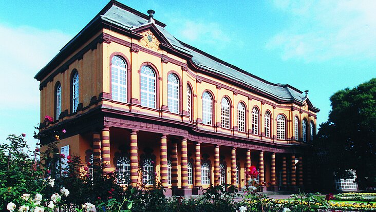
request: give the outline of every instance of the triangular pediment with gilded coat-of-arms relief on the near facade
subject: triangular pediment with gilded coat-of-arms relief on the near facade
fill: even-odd
[[[166,37],[161,31],[154,25],[154,23],[149,23],[132,31],[142,35],[139,40],[139,45],[157,52],[161,52],[160,44],[163,46],[171,47],[170,42],[167,41]]]

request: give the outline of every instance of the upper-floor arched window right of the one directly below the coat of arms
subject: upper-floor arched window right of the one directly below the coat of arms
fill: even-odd
[[[179,114],[179,79],[178,76],[170,73],[167,76],[167,100],[170,112]]]

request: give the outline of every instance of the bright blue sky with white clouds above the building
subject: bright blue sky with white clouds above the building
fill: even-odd
[[[326,122],[336,91],[376,77],[376,1],[125,1],[179,40],[273,83],[309,90]],[[34,75],[108,1],[0,3],[0,143],[40,119]]]

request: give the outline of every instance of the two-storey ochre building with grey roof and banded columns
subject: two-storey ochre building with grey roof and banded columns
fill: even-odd
[[[308,91],[185,44],[148,13],[111,1],[35,75],[41,122],[54,118],[41,133],[66,129],[61,153],[117,170],[121,184],[186,196],[245,186],[254,165],[264,190],[308,185],[319,111]]]

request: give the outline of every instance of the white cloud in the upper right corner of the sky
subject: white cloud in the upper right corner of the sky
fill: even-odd
[[[281,51],[284,60],[375,59],[376,1],[274,3],[294,20],[266,45]]]

